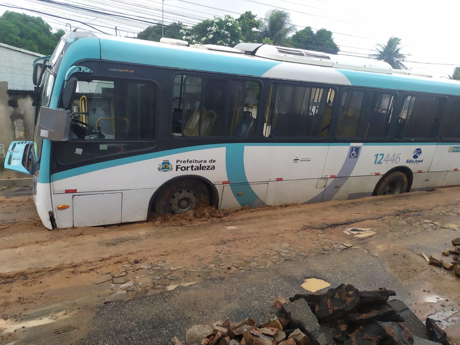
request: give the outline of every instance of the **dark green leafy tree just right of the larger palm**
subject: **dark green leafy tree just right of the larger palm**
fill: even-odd
[[[313,50],[316,52],[330,54],[337,54],[339,52],[339,47],[332,38],[332,32],[326,29],[320,29],[313,32],[310,26],[292,35],[291,45],[296,48]]]

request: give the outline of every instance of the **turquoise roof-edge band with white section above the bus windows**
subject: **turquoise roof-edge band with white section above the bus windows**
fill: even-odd
[[[265,57],[196,49],[149,40],[138,40],[111,35],[72,32],[63,36],[70,45],[65,52],[66,60],[82,60],[99,56],[103,60],[140,63],[159,67],[217,72],[253,77],[266,77],[290,81],[308,81],[336,85],[363,86],[414,92],[460,95],[460,82],[416,75],[384,74],[352,69],[339,69],[283,62]],[[97,39],[96,46],[92,40]],[[100,49],[99,52],[94,50]],[[82,54],[83,52],[83,54]],[[75,54],[75,59],[71,56]]]

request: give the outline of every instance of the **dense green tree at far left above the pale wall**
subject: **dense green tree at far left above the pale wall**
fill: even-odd
[[[0,16],[0,42],[17,48],[51,55],[64,34],[64,30],[53,33],[40,17],[14,11],[5,11]]]

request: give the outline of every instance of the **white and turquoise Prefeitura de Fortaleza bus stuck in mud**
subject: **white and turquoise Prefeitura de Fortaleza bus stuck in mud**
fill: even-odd
[[[460,83],[383,61],[71,32],[34,65],[47,229],[460,184]]]

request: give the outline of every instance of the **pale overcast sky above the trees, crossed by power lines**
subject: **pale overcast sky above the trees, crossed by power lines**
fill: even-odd
[[[143,17],[145,23],[132,23],[123,18],[81,15],[78,11],[56,8],[40,0],[0,0],[27,9],[75,18],[109,34],[115,34],[115,26],[122,36],[135,36],[149,23],[161,22],[161,0],[55,0],[67,4],[94,6],[104,11]],[[193,25],[213,16],[239,17],[244,11],[252,11],[257,17],[278,8],[290,12],[297,29],[311,26],[328,29],[342,54],[366,56],[375,53],[377,43],[385,44],[395,35],[402,40],[402,52],[407,60],[423,63],[404,63],[413,72],[423,72],[434,77],[452,75],[460,66],[460,1],[459,0],[165,0],[164,21],[182,21]],[[52,18],[20,9],[0,6],[6,10],[20,11],[43,17],[53,30],[65,29],[65,23],[80,26],[67,19]],[[81,29],[94,29],[82,26]],[[433,64],[433,63],[444,63]],[[452,65],[449,65],[452,64]]]

